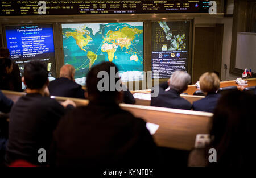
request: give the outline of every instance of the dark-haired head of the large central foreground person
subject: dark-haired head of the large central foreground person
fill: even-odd
[[[122,92],[119,92],[115,85],[121,82],[117,66],[112,62],[104,62],[95,65],[90,69],[87,78],[87,92],[90,101],[121,102]],[[111,73],[111,74],[110,74]]]

